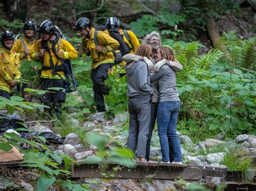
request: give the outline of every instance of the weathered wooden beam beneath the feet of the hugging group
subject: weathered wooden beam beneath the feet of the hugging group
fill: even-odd
[[[107,166],[107,168],[105,167]],[[178,176],[184,180],[199,180],[202,177],[201,169],[186,167],[185,165],[138,162],[136,168],[120,167],[118,164],[80,164],[72,165],[74,178],[130,178],[130,179],[167,179],[173,180]],[[113,171],[113,168],[120,168]],[[103,171],[105,169],[105,171]],[[104,173],[104,174],[103,174]]]

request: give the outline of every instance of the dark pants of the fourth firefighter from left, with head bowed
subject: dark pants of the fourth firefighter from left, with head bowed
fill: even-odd
[[[99,112],[106,111],[104,105],[104,95],[109,95],[111,88],[105,85],[105,80],[107,79],[107,72],[111,67],[111,63],[103,63],[96,69],[91,70],[94,100]]]

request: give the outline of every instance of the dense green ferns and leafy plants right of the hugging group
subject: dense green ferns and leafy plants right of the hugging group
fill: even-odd
[[[173,45],[184,68],[177,73],[183,124],[178,130],[196,139],[198,130],[207,136],[221,131],[230,135],[255,133],[255,72],[242,67],[245,65],[240,56],[248,50],[243,46],[247,40],[238,39],[233,32],[225,33],[221,40],[225,52],[212,49],[206,55],[198,55],[197,43]]]

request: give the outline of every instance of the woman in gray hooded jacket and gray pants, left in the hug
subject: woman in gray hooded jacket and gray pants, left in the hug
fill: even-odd
[[[125,67],[130,114],[127,148],[135,152],[137,147],[139,161],[145,161],[146,143],[149,135],[151,95],[153,94],[153,89],[150,87],[146,62],[151,60],[151,53],[152,47],[149,44],[141,44],[134,54],[143,56],[143,60],[127,63]]]

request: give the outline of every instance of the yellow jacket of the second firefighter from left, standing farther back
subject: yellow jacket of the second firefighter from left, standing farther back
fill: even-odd
[[[12,51],[15,51],[20,54],[19,59],[23,59],[26,56],[24,45],[26,46],[26,49],[29,49],[29,51],[31,51],[32,47],[35,45],[35,42],[36,42],[35,38],[32,38],[31,40],[29,40],[26,37],[22,37],[20,39],[17,39],[14,42],[14,45],[12,46],[11,49]],[[27,55],[27,58],[28,60],[31,60],[29,55]]]

